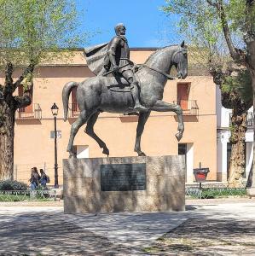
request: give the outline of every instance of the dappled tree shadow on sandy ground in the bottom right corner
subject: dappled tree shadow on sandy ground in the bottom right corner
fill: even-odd
[[[144,251],[149,255],[255,255],[255,223],[233,218],[189,218]]]

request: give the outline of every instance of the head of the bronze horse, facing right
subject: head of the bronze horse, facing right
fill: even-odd
[[[171,61],[177,68],[177,78],[186,79],[188,76],[188,56],[187,49],[184,47],[184,41],[173,53]]]

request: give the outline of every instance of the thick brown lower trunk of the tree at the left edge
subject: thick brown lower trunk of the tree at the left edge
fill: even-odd
[[[0,101],[0,180],[13,179],[14,104]]]

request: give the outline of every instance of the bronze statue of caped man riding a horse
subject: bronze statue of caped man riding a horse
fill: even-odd
[[[107,44],[84,49],[84,56],[90,70],[96,74],[81,83],[69,82],[62,90],[64,120],[67,120],[68,99],[73,87],[77,88],[77,103],[80,110],[78,119],[72,124],[67,151],[76,157],[73,141],[79,128],[87,123],[85,132],[96,140],[102,153],[109,155],[106,143],[99,138],[94,125],[101,112],[139,113],[136,129],[135,151],[139,156],[146,155],[141,150],[141,137],[144,125],[151,111],[177,113],[177,140],[183,137],[183,110],[177,104],[162,101],[171,67],[177,69],[177,78],[188,75],[188,57],[184,42],[181,45],[158,49],[144,64],[130,61],[130,49],[125,38],[125,26],[115,26],[116,36]]]

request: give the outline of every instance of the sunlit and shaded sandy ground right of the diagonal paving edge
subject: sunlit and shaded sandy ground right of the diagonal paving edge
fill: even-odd
[[[255,255],[255,203],[193,204],[183,224],[145,249],[149,255]]]

